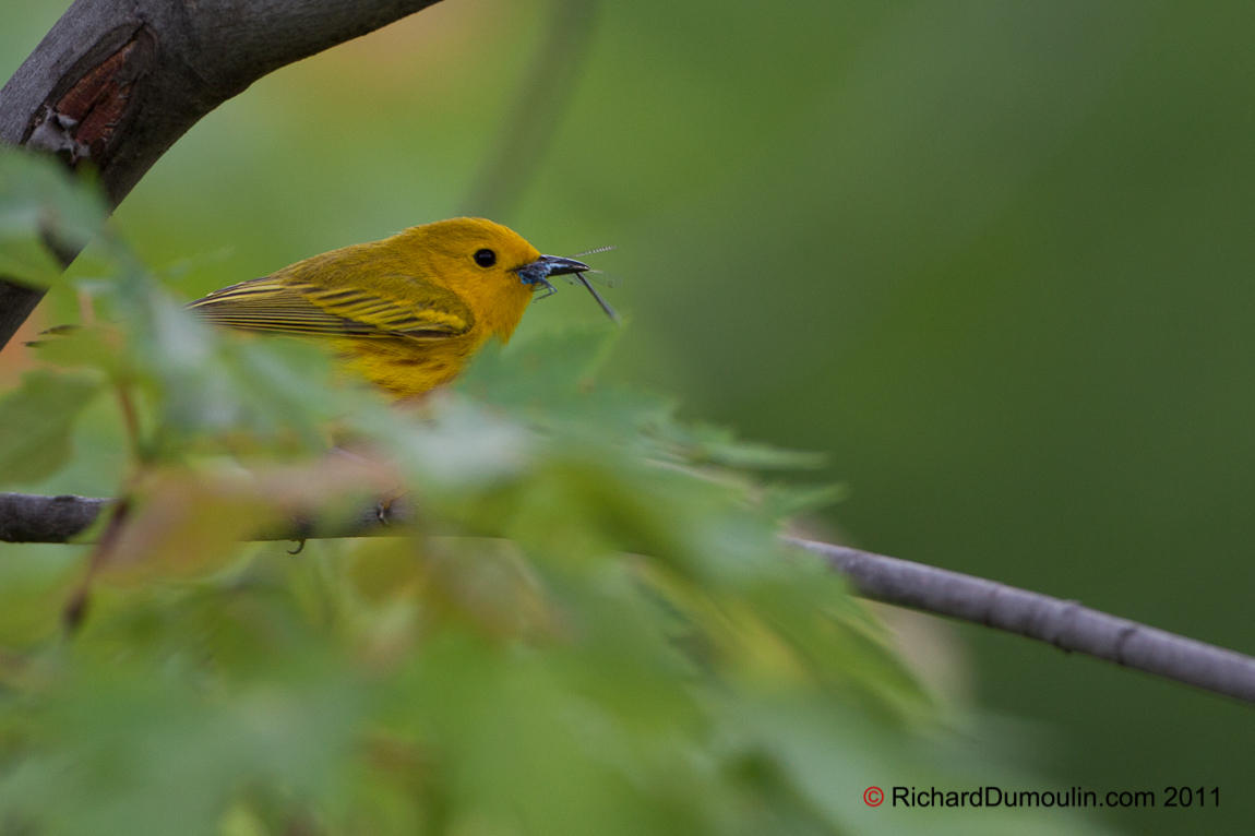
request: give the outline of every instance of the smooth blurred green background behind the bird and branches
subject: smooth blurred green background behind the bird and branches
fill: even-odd
[[[67,5],[4,0],[5,78]],[[831,531],[1250,653],[1252,31],[1237,1],[444,0],[227,103],[118,222],[198,257],[188,297],[484,205],[617,245],[615,374],[830,453]],[[565,290],[523,330],[599,316]],[[1059,786],[1221,787],[1099,818],[1249,831],[1249,708],[960,635]]]

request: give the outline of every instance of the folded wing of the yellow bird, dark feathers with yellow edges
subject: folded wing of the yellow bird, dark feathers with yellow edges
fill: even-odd
[[[328,336],[439,339],[466,334],[471,309],[452,290],[405,276],[410,299],[385,299],[351,286],[328,287],[266,276],[215,291],[188,308],[217,325]]]

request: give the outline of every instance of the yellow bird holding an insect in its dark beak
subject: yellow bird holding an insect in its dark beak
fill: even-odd
[[[326,340],[349,372],[404,399],[454,379],[489,339],[508,341],[536,291],[556,291],[553,276],[577,279],[617,321],[590,270],[501,223],[459,217],[324,252],[188,308],[216,325]]]

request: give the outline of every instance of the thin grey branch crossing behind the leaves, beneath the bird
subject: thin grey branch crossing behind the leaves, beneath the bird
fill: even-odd
[[[0,493],[0,541],[68,542],[87,531],[109,502],[82,496]],[[294,520],[254,539],[387,536],[397,533],[397,526],[412,517],[412,508],[393,502],[385,513],[380,513],[379,506],[370,506],[330,527]],[[865,598],[984,624],[1255,703],[1255,658],[1241,653],[983,577],[846,546],[786,540],[825,557]]]

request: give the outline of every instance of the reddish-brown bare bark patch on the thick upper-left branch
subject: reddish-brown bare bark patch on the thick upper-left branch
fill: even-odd
[[[55,104],[44,104],[26,144],[63,154],[70,166],[80,159],[99,164],[143,75],[138,62],[129,60],[137,44],[138,38],[132,38],[84,73]]]

